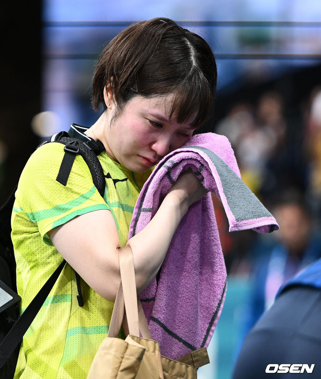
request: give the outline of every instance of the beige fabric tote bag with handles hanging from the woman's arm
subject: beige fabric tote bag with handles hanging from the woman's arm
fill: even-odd
[[[160,355],[159,344],[151,339],[142,305],[137,298],[130,246],[119,251],[119,263],[121,282],[108,337],[101,343],[87,379],[196,379],[196,369],[209,363],[206,348],[178,360]],[[126,340],[116,338],[122,323]],[[139,331],[143,337],[139,337]]]

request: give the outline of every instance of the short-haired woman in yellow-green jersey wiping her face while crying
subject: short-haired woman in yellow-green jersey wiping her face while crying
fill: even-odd
[[[31,156],[12,214],[21,310],[62,257],[69,264],[23,338],[15,378],[86,378],[108,333],[120,282],[117,247],[132,248],[138,292],[155,277],[179,222],[206,191],[185,172],[151,222],[127,241],[133,207],[153,166],[209,120],[216,78],[203,38],[169,19],[131,25],[106,46],[93,77],[93,107],[103,113],[86,135],[105,147],[98,156],[104,198],[80,156],[67,186],[56,181],[63,145],[46,144]]]

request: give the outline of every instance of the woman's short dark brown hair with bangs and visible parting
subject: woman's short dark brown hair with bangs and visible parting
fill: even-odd
[[[136,95],[174,94],[169,117],[192,118],[199,127],[213,114],[217,81],[215,58],[207,42],[167,18],[132,24],[101,53],[92,81],[92,106],[106,109],[104,87],[110,85],[115,117]]]

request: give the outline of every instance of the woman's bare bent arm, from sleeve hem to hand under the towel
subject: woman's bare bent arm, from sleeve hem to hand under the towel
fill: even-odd
[[[185,172],[148,225],[128,240],[140,292],[157,274],[171,239],[189,206],[206,193],[195,174]],[[52,243],[90,287],[114,301],[120,270],[117,228],[109,210],[77,216],[49,232]]]

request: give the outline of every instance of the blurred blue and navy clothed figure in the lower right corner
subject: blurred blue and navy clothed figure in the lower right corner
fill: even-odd
[[[282,363],[299,363],[299,371],[293,373],[301,373],[301,377],[321,377],[320,277],[319,259],[284,286],[246,337],[233,379],[265,378],[268,365],[273,373],[275,366]]]

